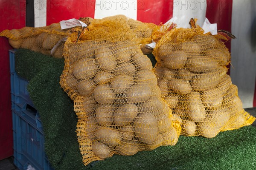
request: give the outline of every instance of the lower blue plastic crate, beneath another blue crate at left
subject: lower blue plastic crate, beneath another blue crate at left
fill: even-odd
[[[23,119],[20,113],[12,111],[14,164],[20,170],[26,170],[30,164],[36,170],[52,170],[44,153],[44,134]]]

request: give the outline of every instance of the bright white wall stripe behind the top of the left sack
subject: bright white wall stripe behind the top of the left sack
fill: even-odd
[[[118,14],[137,20],[137,0],[96,0],[94,18]]]

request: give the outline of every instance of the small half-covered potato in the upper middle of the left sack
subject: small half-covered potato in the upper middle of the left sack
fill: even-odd
[[[122,62],[119,65],[116,66],[116,68],[113,70],[113,74],[116,75],[134,75],[136,71],[136,68],[133,64],[129,62]]]

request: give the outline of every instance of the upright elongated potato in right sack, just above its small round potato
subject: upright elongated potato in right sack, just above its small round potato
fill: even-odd
[[[177,105],[178,111],[180,111],[178,115],[186,116],[192,122],[199,122],[204,119],[206,111],[199,93],[192,92],[180,100]]]

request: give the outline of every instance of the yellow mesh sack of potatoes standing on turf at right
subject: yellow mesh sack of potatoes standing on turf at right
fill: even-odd
[[[212,138],[253,123],[227,75],[230,53],[218,35],[204,34],[201,28],[174,28],[153,54],[157,85],[180,116],[182,135]]]

